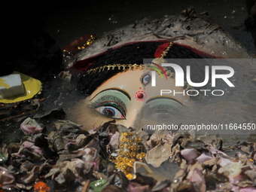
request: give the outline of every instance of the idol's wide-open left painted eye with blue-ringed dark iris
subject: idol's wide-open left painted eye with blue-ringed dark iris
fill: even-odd
[[[102,106],[102,107],[95,108],[95,110],[108,118],[125,119],[123,114],[117,108],[114,108],[112,106]]]

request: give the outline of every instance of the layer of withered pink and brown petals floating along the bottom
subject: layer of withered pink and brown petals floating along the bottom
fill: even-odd
[[[256,190],[253,143],[220,148],[221,140],[212,136],[200,140],[194,133],[148,135],[114,121],[92,133],[69,120],[52,119],[51,123],[56,129],[48,134],[26,135],[8,147],[2,144],[3,190]],[[234,157],[227,154],[230,150],[237,151]],[[158,180],[157,169],[172,166],[170,162],[181,169],[171,179]],[[142,175],[142,168],[150,175]],[[168,169],[160,169],[160,174]]]

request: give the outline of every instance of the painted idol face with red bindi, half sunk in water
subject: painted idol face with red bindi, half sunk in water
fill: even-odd
[[[120,72],[109,78],[84,100],[76,105],[76,110],[82,111],[73,117],[75,122],[84,126],[85,130],[92,130],[108,120],[116,120],[123,126],[139,129],[142,120],[172,120],[178,111],[190,106],[188,96],[160,96],[160,90],[168,87],[176,91],[183,91],[175,87],[173,79],[161,79],[157,75],[156,87],[151,87],[151,73],[145,70]]]

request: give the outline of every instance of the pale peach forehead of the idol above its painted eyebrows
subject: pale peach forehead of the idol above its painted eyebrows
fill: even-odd
[[[151,77],[151,70],[135,70],[135,71],[126,71],[120,72],[117,75],[109,78],[103,84],[96,88],[93,93],[87,97],[87,100],[94,99],[98,96],[102,96],[104,94],[109,94],[109,91],[112,91],[114,94],[122,95],[125,99],[129,99],[130,101],[136,100],[136,93],[139,91],[144,91],[147,94],[147,99],[151,96],[160,95],[160,90],[166,90],[166,87],[169,89],[176,89],[182,91],[183,88],[175,88],[175,81],[172,78],[162,79],[160,75],[156,75],[157,86],[152,87],[151,81],[148,84],[144,84],[143,78]],[[123,93],[122,93],[123,92]],[[184,102],[184,96],[177,95],[178,100]],[[147,100],[145,99],[145,101]],[[187,98],[189,99],[189,98]]]

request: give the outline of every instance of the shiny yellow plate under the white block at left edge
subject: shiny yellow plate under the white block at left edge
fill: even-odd
[[[13,72],[12,74],[20,74],[20,78],[23,83],[25,93],[23,95],[13,96],[8,99],[0,99],[0,102],[2,103],[21,102],[26,99],[31,99],[41,90],[41,81],[35,78],[31,78],[28,75],[24,75],[23,73],[20,73],[20,72]]]

